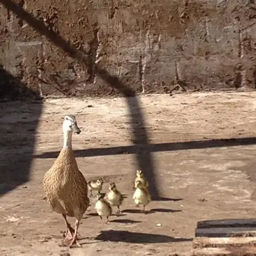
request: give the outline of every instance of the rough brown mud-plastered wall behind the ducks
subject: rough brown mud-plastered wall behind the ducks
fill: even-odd
[[[256,87],[254,0],[0,3],[0,68],[28,87],[17,93]],[[14,90],[0,79],[1,96]]]

